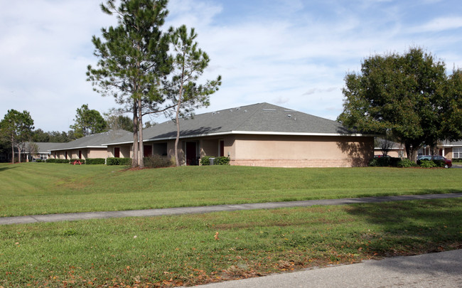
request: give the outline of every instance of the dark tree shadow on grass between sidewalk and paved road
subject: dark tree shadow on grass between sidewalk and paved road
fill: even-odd
[[[372,232],[360,235],[362,240],[358,243],[372,257],[462,249],[461,198],[359,204],[352,206],[348,213],[373,227]],[[455,262],[451,260],[448,265],[460,265],[460,260]],[[410,267],[404,260],[388,268],[408,269],[413,273],[445,270],[446,264],[441,268],[438,264],[441,263],[420,262],[418,267]],[[377,262],[376,265],[385,264]]]

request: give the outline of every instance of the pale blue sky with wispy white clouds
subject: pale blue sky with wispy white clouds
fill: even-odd
[[[91,38],[117,23],[100,0],[0,0],[0,119],[27,110],[35,127],[68,131],[83,104],[117,107],[86,81]],[[343,78],[364,58],[425,48],[462,68],[460,0],[170,0],[165,28],[195,27],[222,75],[210,112],[269,102],[335,119]],[[145,119],[162,122],[163,119]]]

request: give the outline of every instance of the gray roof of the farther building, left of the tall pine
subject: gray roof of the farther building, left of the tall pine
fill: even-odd
[[[126,130],[111,130],[108,132],[102,132],[98,134],[92,134],[87,137],[75,139],[72,142],[60,143],[59,146],[55,146],[50,151],[68,150],[68,149],[79,149],[79,148],[105,148],[105,143],[117,141],[121,137],[133,137],[133,133]]]

